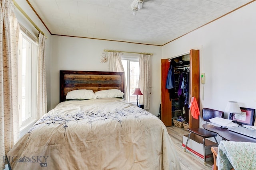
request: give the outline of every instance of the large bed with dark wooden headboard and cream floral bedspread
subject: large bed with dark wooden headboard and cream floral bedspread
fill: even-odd
[[[162,121],[123,92],[122,72],[60,70],[60,103],[8,152],[10,168],[180,170]]]

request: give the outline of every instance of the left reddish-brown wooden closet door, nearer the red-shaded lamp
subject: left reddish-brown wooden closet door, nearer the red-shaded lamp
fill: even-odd
[[[172,126],[172,100],[166,86],[166,78],[170,62],[168,59],[161,60],[161,120],[165,126]]]

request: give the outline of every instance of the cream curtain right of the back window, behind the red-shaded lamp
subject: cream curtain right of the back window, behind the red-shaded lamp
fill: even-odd
[[[139,88],[143,95],[140,96],[140,104],[144,105],[144,109],[150,109],[150,56],[142,54],[139,57],[140,78]]]

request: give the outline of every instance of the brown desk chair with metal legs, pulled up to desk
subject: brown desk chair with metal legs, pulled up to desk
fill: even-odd
[[[209,119],[212,119],[214,117],[221,117],[223,118],[224,112],[223,111],[218,111],[218,110],[214,110],[214,109],[209,109],[209,108],[203,108],[202,110],[202,118],[204,121],[209,122]],[[204,146],[204,164],[206,165],[206,158],[205,158],[205,138],[210,138],[210,137],[214,137],[216,143],[218,144],[218,141],[216,140],[216,136],[218,136],[217,133],[208,131],[206,129],[203,128],[188,128],[188,131],[190,132],[188,134],[188,140],[186,142],[186,145],[184,147],[184,152],[186,152],[186,147],[188,145],[188,141],[190,139],[190,135],[191,133],[194,133],[200,137],[203,137],[203,146]]]

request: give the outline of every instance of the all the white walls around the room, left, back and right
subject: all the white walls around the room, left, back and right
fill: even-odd
[[[256,108],[256,2],[163,47],[50,35],[25,0],[17,3],[48,37],[48,110],[59,102],[59,70],[108,71],[108,63],[100,63],[103,49],[154,53],[150,112],[155,115],[161,95],[160,59],[184,54],[190,49],[200,49],[200,72],[206,74],[206,84],[200,84],[200,106],[224,110],[226,103],[233,100],[241,107]],[[38,33],[17,9],[15,13],[22,25],[35,35]]]

